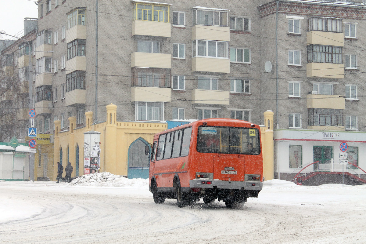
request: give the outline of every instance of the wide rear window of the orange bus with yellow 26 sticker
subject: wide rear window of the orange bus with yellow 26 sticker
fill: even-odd
[[[199,126],[197,151],[259,155],[261,153],[259,130],[243,127]]]

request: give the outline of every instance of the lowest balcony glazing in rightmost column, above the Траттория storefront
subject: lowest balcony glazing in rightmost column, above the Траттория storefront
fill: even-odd
[[[309,126],[343,126],[343,109],[333,108],[309,108]]]

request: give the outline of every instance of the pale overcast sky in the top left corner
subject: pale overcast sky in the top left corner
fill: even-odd
[[[38,18],[37,0],[0,0],[0,31],[14,36],[23,30],[24,18]],[[10,39],[0,35],[0,39]]]

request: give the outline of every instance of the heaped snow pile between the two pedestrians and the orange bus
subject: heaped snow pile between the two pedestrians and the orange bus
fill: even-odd
[[[128,179],[120,175],[111,174],[109,172],[101,172],[94,174],[82,175],[72,180],[69,185],[77,186],[127,186],[134,189],[147,188],[149,186],[148,179]]]

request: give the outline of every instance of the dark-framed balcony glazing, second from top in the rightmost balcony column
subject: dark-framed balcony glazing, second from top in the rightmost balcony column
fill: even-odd
[[[307,62],[342,63],[342,47],[308,45]]]

